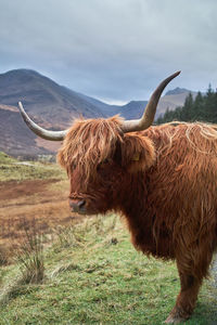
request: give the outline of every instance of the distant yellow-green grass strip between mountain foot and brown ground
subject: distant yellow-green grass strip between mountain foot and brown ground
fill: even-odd
[[[22,165],[22,161],[0,152],[0,182],[65,178],[65,172],[56,164],[39,161],[27,164],[29,166]]]

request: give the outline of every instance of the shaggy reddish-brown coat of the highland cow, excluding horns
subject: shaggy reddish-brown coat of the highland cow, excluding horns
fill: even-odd
[[[59,152],[69,199],[116,210],[144,253],[176,259],[181,291],[167,318],[188,318],[217,247],[217,131],[168,123],[123,134],[118,117],[78,120]]]

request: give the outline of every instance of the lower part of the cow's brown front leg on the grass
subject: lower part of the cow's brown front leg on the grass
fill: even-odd
[[[195,307],[202,278],[180,273],[181,290],[177,297],[176,304],[165,323],[179,324],[190,317]]]

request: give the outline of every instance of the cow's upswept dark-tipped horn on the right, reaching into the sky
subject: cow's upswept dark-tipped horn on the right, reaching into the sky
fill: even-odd
[[[149,103],[146,104],[144,113],[140,119],[124,121],[122,127],[124,133],[142,131],[148,129],[152,125],[156,113],[156,106],[158,104],[158,100],[161,98],[162,92],[164,91],[165,87],[169,83],[169,81],[176,78],[180,73],[181,72],[177,72],[176,74],[169,76],[168,78],[166,78],[164,81],[159,83],[159,86],[153,92]]]

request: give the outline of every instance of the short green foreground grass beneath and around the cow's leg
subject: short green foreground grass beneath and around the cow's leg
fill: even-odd
[[[44,266],[38,285],[21,285],[17,264],[1,269],[8,301],[0,324],[162,324],[179,291],[175,263],[137,252],[114,216],[59,229]],[[205,283],[186,324],[215,324],[216,292],[209,294]]]

